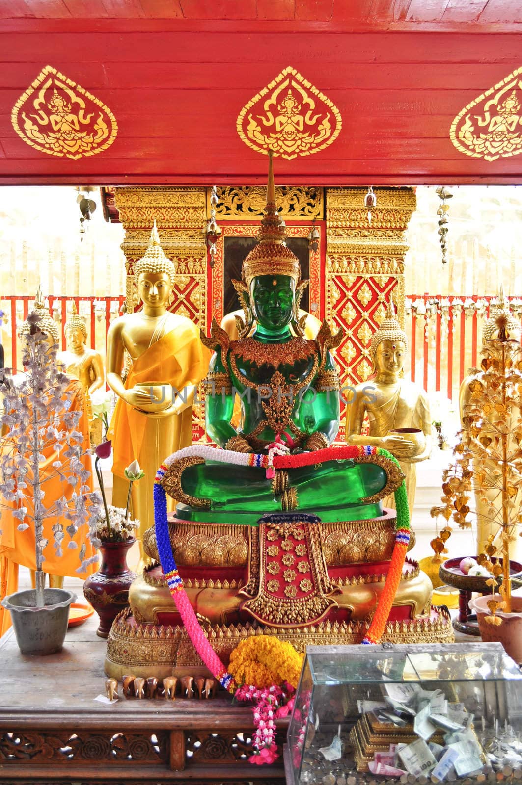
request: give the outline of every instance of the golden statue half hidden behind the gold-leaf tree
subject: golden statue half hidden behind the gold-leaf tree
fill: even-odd
[[[498,316],[505,317],[505,330],[509,333],[509,338],[513,338],[520,342],[520,320],[513,316],[513,313],[509,310],[509,306],[506,305],[502,286],[500,287],[500,293],[498,294],[496,308],[491,308],[491,316],[485,321],[483,326],[483,345],[487,345],[487,341],[498,338],[498,324],[496,321]],[[472,391],[470,385],[475,382],[480,382],[482,375],[482,371],[473,369],[461,383],[461,388],[458,393],[458,403],[462,425],[464,425],[463,419],[465,418],[466,407],[471,402]],[[522,401],[520,402],[520,405],[522,406]],[[483,421],[483,424],[481,425],[480,435],[487,436],[487,434],[490,433],[493,436],[497,436],[498,431],[496,426],[499,422],[504,421],[505,414],[499,414],[492,408],[487,421]],[[474,472],[479,469],[485,469],[487,474],[493,475],[498,470],[496,466],[491,466],[491,462],[485,462],[483,458],[480,458],[480,461],[478,459],[473,460],[472,465]],[[474,476],[472,482],[474,484]],[[522,504],[520,501],[520,493],[518,493],[516,498],[513,498],[512,501],[516,508],[519,508],[520,504]],[[487,545],[487,538],[490,535],[498,535],[501,531],[498,526],[498,515],[492,513],[491,509],[489,509],[489,502],[494,504],[494,510],[498,513],[498,511],[502,509],[502,493],[494,489],[491,489],[491,491],[479,491],[477,489],[475,491],[477,553],[483,553],[484,547]],[[513,549],[511,550],[511,553],[513,558],[520,561],[520,557],[522,557],[522,542],[520,542],[519,537],[516,537],[515,540],[516,542],[512,543]],[[494,544],[496,545],[496,542]]]

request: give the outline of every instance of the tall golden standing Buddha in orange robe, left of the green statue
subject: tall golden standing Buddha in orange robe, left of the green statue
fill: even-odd
[[[192,444],[193,398],[207,373],[210,352],[190,319],[167,310],[175,266],[160,246],[156,221],[145,256],[134,265],[134,277],[142,309],[115,319],[107,334],[107,383],[119,399],[108,436],[114,505],[125,506],[124,469],[137,459],[145,471],[144,479],[132,486],[132,514],[140,520],[142,540],[154,524],[158,466],[166,455]],[[124,352],[132,363],[125,381]]]

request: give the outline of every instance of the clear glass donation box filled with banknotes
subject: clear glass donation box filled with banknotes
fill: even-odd
[[[501,644],[308,646],[292,785],[522,783],[522,673]]]

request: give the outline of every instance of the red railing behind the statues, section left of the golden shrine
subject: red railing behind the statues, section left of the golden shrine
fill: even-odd
[[[27,319],[29,307],[35,298],[30,295],[8,295],[0,298],[0,334],[5,352],[5,365],[12,367],[15,372],[20,369],[20,341],[18,331],[24,319]],[[72,312],[72,303],[86,323],[87,345],[97,349],[105,359],[105,342],[108,326],[112,319],[116,319],[122,310],[125,296],[116,297],[83,297],[75,296],[47,298],[49,312],[61,327],[61,347],[65,348],[64,327],[65,322]]]

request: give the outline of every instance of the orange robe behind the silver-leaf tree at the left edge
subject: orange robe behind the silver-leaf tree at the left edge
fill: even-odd
[[[86,415],[85,408],[85,393],[83,387],[77,379],[71,379],[65,392],[71,393],[71,407],[68,411],[81,411],[82,416],[79,418],[78,425],[75,430],[83,433],[83,449],[90,449],[89,441],[89,419]],[[52,445],[47,445],[43,450],[44,460],[40,463],[40,480],[43,483],[42,490],[45,491],[43,503],[46,509],[53,506],[58,498],[65,496],[72,498],[74,488],[68,482],[61,480],[57,474],[57,470],[53,469],[53,462],[60,460],[60,454],[53,450]],[[64,459],[66,460],[66,459]],[[92,461],[90,454],[87,453],[81,458],[83,466],[90,472],[90,477],[86,480],[86,485],[89,486],[90,491],[93,491],[93,474],[92,474]],[[32,500],[29,496],[31,487],[25,489],[28,496],[24,500],[24,506],[28,508],[28,512],[32,513]],[[13,508],[14,509],[14,508]],[[63,556],[57,557],[56,550],[53,547],[53,525],[60,522],[64,527],[63,539]],[[0,535],[0,595],[2,599],[8,594],[18,590],[18,566],[22,564],[31,570],[36,569],[36,553],[35,553],[35,528],[31,518],[26,517],[24,523],[29,525],[28,529],[18,531],[20,520],[14,518],[9,509],[2,510],[2,520],[0,520],[0,528],[2,534]],[[94,556],[95,550],[91,545],[90,539],[87,534],[89,532],[88,524],[83,524],[79,527],[78,531],[72,538],[76,543],[75,550],[68,548],[68,543],[71,541],[68,533],[65,531],[66,527],[71,523],[68,518],[46,518],[43,523],[43,535],[49,541],[43,551],[45,560],[42,563],[42,570],[49,573],[49,575],[68,575],[72,578],[83,578],[94,572],[97,569],[96,564],[90,564],[86,570],[78,572],[80,566],[79,552],[83,544],[86,546],[86,554],[84,560],[90,559]],[[0,606],[0,631],[3,633],[9,628],[11,624],[11,615]]]

